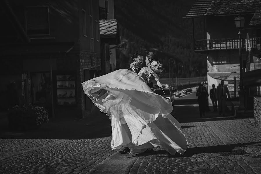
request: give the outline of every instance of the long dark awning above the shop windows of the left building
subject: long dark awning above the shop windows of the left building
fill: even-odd
[[[10,44],[0,48],[0,55],[67,54],[74,42]]]

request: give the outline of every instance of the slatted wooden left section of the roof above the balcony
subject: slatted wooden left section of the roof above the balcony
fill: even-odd
[[[213,1],[213,0],[195,1],[194,5],[191,7],[188,14],[186,15],[186,18],[203,16],[206,13],[207,9],[209,8],[211,1]]]

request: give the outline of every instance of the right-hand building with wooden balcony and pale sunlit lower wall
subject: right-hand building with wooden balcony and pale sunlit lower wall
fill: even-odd
[[[240,39],[234,19],[239,15],[245,19],[244,28],[241,30],[243,66],[245,71],[253,71],[255,66],[252,56],[257,53],[257,45],[261,43],[261,30],[253,30],[250,24],[260,8],[261,2],[254,0],[197,0],[187,13],[185,18],[193,21],[194,50],[206,56],[209,90],[212,84],[217,86],[223,79],[229,87],[230,96],[238,98]],[[251,56],[248,56],[250,53],[246,50],[251,50]],[[258,90],[251,91],[247,83],[244,84],[244,88],[246,104],[249,97],[253,99],[250,93],[260,95]],[[250,104],[246,107],[252,106]]]

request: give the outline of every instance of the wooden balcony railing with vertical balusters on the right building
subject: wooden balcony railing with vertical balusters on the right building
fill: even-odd
[[[242,48],[246,48],[247,39],[241,39]],[[261,37],[251,37],[251,48],[256,48],[257,44],[261,44]],[[220,49],[238,49],[239,38],[226,38],[226,39],[202,39],[195,40],[195,51],[200,50],[220,50]]]

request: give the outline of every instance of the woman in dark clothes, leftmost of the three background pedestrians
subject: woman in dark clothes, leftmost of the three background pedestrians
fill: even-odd
[[[205,116],[205,112],[206,112],[206,98],[209,97],[209,94],[206,90],[206,88],[204,88],[204,86],[202,84],[200,84],[197,93],[197,102],[199,105],[199,110],[200,110],[200,117]]]

